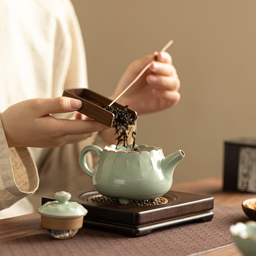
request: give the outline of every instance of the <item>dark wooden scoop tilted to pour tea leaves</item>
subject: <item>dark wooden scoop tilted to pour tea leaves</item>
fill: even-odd
[[[82,108],[77,110],[78,112],[86,116],[89,116],[102,124],[105,124],[109,127],[113,127],[114,114],[104,108],[101,108],[101,106],[103,105],[109,105],[112,102],[112,100],[89,89],[81,88],[66,89],[64,90],[62,96],[81,100],[83,105]],[[113,106],[124,108],[123,105],[120,105],[116,102],[113,103]],[[131,114],[131,117],[133,119],[136,118],[136,111],[128,108],[127,112]]]

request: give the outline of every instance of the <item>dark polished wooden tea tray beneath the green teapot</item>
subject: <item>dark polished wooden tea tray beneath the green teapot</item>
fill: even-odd
[[[93,202],[99,198],[103,198],[103,203]],[[84,224],[111,228],[127,236],[144,236],[154,229],[213,218],[214,198],[198,194],[170,191],[155,205],[121,205],[118,201],[113,203],[115,199],[110,199],[109,204],[105,199],[96,191],[74,191],[70,201],[82,204],[88,210]],[[53,200],[54,195],[44,196],[42,204]]]

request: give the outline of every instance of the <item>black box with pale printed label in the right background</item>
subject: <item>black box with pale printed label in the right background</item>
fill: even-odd
[[[224,142],[223,189],[256,192],[256,138]]]

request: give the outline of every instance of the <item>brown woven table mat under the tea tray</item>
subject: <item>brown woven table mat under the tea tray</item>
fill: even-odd
[[[233,244],[229,226],[249,220],[240,207],[215,205],[211,221],[191,222],[129,237],[110,229],[85,226],[67,240],[48,233],[1,243],[1,255],[183,256]]]

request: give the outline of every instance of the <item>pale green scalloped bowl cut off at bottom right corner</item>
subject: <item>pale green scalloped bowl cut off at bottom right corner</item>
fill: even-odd
[[[255,256],[256,252],[256,222],[237,222],[229,227],[237,247],[244,256]]]

